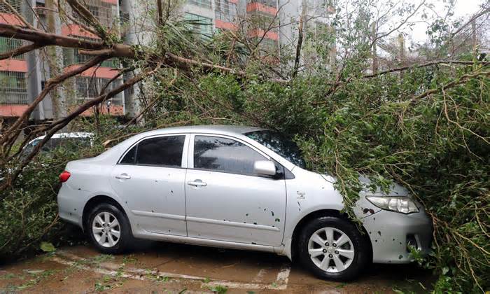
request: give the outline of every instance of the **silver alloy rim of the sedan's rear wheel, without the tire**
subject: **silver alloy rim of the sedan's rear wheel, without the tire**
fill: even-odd
[[[92,235],[101,246],[106,248],[116,246],[121,235],[118,218],[108,211],[99,212],[92,222]]]

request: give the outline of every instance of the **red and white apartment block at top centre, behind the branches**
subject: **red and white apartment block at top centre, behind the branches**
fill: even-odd
[[[186,19],[200,20],[202,25],[196,25],[195,31],[203,35],[237,29],[237,20],[247,20],[248,38],[277,56],[281,50],[286,50],[283,55],[295,51],[302,13],[304,33],[309,33],[311,39],[335,34],[330,29],[335,13],[333,0],[188,0],[183,10]],[[317,57],[311,50],[307,54],[308,59]]]

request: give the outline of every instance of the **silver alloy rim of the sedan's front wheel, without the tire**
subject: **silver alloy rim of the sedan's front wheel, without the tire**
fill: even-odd
[[[308,253],[325,272],[342,272],[352,264],[355,250],[346,233],[337,228],[321,228],[309,237]]]

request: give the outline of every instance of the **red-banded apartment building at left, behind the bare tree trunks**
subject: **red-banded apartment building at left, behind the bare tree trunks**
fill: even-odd
[[[99,40],[99,37],[83,30],[73,22],[61,22],[58,15],[48,20],[50,16],[46,13],[45,0],[7,1],[34,27],[46,28],[54,25],[52,31],[57,34],[92,41]],[[85,0],[85,3],[103,25],[118,26],[118,0]],[[69,7],[64,6],[63,8],[67,14],[81,21]],[[34,17],[33,10],[36,11],[38,17]],[[10,8],[3,3],[0,3],[0,22],[22,24]],[[0,37],[0,52],[19,48],[23,43],[23,41],[13,38]],[[48,58],[48,55],[55,55],[55,57]],[[20,116],[41,92],[46,80],[55,75],[55,72],[62,73],[75,69],[80,64],[87,62],[88,59],[90,59],[88,55],[80,54],[77,49],[57,48],[56,51],[36,50],[10,59],[0,60],[0,118],[8,121]],[[92,67],[79,76],[71,78],[67,83],[64,83],[63,87],[59,87],[56,97],[48,96],[39,104],[32,119],[50,120],[62,117],[66,115],[66,111],[73,109],[87,99],[97,97],[99,90],[116,76],[117,70],[114,69],[119,67],[118,61],[108,60],[100,66]],[[106,88],[111,90],[120,83],[123,83],[122,78],[116,79]],[[100,111],[115,116],[123,115],[125,113],[124,93],[110,99]],[[92,115],[92,109],[85,111],[83,115]]]

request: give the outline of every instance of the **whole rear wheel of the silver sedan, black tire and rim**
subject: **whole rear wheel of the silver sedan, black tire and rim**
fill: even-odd
[[[94,207],[85,228],[92,244],[102,253],[123,253],[132,244],[130,222],[113,204],[102,203]]]

